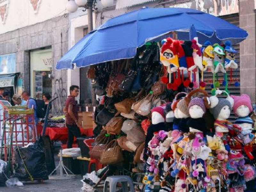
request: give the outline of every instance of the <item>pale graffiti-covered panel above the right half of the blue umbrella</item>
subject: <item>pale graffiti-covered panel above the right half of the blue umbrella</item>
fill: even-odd
[[[187,3],[175,4],[170,7],[196,9],[215,16],[239,12],[238,0],[193,0]]]

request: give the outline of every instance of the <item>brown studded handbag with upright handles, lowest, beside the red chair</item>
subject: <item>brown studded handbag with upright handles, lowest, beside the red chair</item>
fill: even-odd
[[[108,143],[105,150],[102,151],[100,156],[101,164],[117,164],[124,161],[124,157],[121,148],[117,144],[116,140],[112,140]]]

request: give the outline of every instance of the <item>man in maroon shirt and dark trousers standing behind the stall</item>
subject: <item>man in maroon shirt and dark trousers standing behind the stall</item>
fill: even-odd
[[[69,88],[70,95],[66,100],[66,105],[63,111],[66,113],[66,125],[68,127],[68,148],[72,148],[74,136],[81,137],[80,127],[82,125],[78,122],[78,110],[79,106],[75,97],[79,94],[79,87],[72,85]],[[68,109],[68,111],[67,111]]]

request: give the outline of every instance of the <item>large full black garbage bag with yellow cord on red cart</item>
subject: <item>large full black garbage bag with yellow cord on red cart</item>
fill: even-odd
[[[20,180],[34,179],[48,180],[45,164],[44,148],[36,141],[26,147],[16,147],[13,151],[14,176]]]

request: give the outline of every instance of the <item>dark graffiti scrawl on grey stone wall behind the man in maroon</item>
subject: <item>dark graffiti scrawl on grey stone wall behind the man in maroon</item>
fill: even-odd
[[[60,115],[63,114],[63,108],[65,107],[66,99],[68,97],[67,91],[63,86],[63,80],[61,77],[59,79],[56,79],[54,83],[53,98],[56,97],[58,97],[58,99],[53,101],[52,110],[54,114]]]

